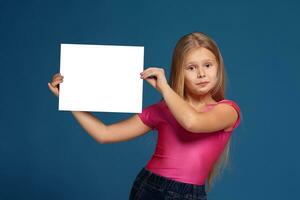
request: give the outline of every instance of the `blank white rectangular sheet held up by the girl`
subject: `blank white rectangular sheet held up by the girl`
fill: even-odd
[[[61,44],[59,110],[141,113],[143,46]]]

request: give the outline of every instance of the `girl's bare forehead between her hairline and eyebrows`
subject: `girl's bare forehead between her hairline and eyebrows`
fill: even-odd
[[[215,55],[204,47],[190,50],[184,58],[184,62],[216,61]]]

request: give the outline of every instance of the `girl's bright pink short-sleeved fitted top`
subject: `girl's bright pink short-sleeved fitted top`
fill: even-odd
[[[240,123],[240,108],[232,100],[224,99],[216,104],[208,104],[204,111],[218,103],[227,103],[238,112],[238,119],[230,131],[200,134],[189,132],[176,121],[164,100],[138,113],[147,126],[158,130],[155,152],[146,169],[176,181],[204,185],[231,133]]]

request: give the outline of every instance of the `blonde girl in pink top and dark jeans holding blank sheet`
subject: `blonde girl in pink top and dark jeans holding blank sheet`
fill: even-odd
[[[158,131],[155,152],[134,180],[129,199],[207,199],[240,123],[239,106],[224,98],[225,69],[217,44],[204,33],[187,34],[176,44],[169,83],[163,68],[149,67],[140,75],[163,97],[142,113],[111,125],[89,112],[72,114],[101,144]],[[57,97],[61,82],[58,73],[48,83]]]

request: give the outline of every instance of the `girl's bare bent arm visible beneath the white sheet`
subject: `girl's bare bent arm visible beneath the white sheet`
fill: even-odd
[[[108,126],[89,112],[72,111],[72,114],[83,129],[101,144],[127,141],[151,130],[137,114]]]

